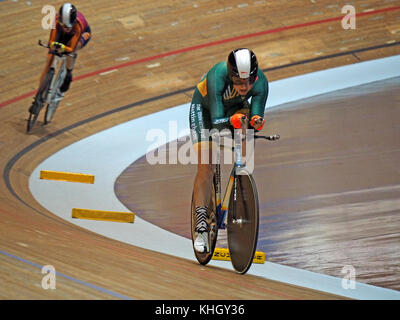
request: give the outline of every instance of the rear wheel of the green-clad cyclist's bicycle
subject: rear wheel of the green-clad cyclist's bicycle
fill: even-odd
[[[196,249],[194,248],[194,241],[196,239],[196,234],[195,234],[196,208],[194,205],[193,195],[192,195],[192,204],[191,204],[192,245],[193,245],[193,251],[196,256],[196,259],[202,265],[206,265],[207,263],[210,262],[213,254],[214,254],[215,245],[217,243],[218,225],[217,225],[217,205],[216,205],[216,195],[215,195],[215,176],[213,179],[211,200],[210,200],[210,203],[208,204],[207,225],[208,225],[208,243],[209,243],[210,251],[201,253],[201,252],[196,251]]]

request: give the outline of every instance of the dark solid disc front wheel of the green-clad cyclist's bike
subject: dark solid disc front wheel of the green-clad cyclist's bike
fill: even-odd
[[[235,169],[234,169],[235,170]],[[257,188],[247,172],[235,176],[228,211],[228,247],[236,272],[246,273],[257,247],[259,206]]]

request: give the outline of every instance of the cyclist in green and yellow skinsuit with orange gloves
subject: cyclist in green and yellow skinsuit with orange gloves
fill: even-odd
[[[196,86],[189,121],[198,157],[193,188],[196,208],[194,248],[197,252],[209,251],[206,220],[214,167],[211,163],[212,144],[206,130],[239,129],[243,117],[249,118],[254,129],[261,130],[265,123],[263,116],[267,97],[268,80],[258,68],[256,55],[246,48],[233,50],[227,62],[212,67]]]

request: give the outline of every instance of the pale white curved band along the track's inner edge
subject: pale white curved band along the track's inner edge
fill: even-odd
[[[400,55],[350,66],[314,72],[270,83],[268,107],[339,89],[400,75]],[[152,225],[139,217],[134,224],[76,220],[72,208],[129,211],[115,196],[114,183],[122,171],[148,151],[154,142],[146,141],[149,124],[169,132],[168,120],[177,121],[175,140],[188,133],[189,104],[120,124],[78,141],[43,161],[32,173],[29,186],[35,199],[47,210],[83,228],[109,238],[157,252],[194,260],[191,241]],[[95,175],[93,185],[40,180],[41,170],[80,172]],[[232,269],[229,262],[212,265]],[[340,272],[340,271],[339,271]],[[250,274],[330,292],[355,299],[400,299],[400,292],[356,283],[356,289],[343,289],[342,279],[295,269],[275,263],[253,264]],[[190,298],[190,297],[188,297]]]

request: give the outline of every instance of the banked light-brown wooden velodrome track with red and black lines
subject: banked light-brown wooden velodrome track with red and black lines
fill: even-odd
[[[356,30],[344,30],[341,6],[332,1],[114,1],[112,7],[109,1],[76,1],[93,39],[79,53],[75,80],[54,122],[27,135],[27,109],[45,61],[36,43],[48,37],[41,28],[46,4],[0,2],[0,298],[115,298],[63,277],[57,278],[57,290],[43,290],[38,266],[46,264],[133,299],[338,298],[203,268],[80,229],[42,208],[28,179],[40,162],[75,141],[189,102],[192,90],[182,89],[192,88],[232,48],[252,48],[260,66],[271,68],[270,81],[399,54],[400,2],[357,1],[357,13],[364,15],[357,18]],[[272,31],[256,34],[266,30]],[[238,38],[243,35],[251,36]],[[296,64],[305,60],[310,61]],[[283,65],[288,66],[274,69]],[[153,100],[156,96],[161,98]],[[135,102],[135,107],[76,125]],[[27,147],[32,150],[19,156]]]

